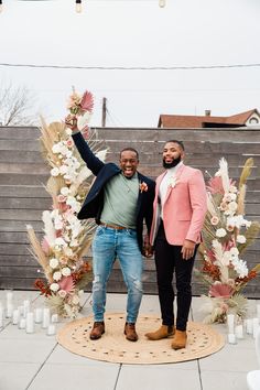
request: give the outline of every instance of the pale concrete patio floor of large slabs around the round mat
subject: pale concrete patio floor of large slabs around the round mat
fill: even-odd
[[[37,292],[14,291],[14,305],[31,300],[32,307],[43,307]],[[84,295],[83,315],[91,314],[90,294]],[[6,291],[0,291],[6,304]],[[256,301],[250,300],[251,312]],[[194,297],[191,319],[201,322],[201,297]],[[126,295],[108,294],[107,312],[124,312]],[[141,313],[159,314],[158,296],[144,295]],[[63,326],[59,323],[57,326]],[[214,325],[227,336],[226,325]],[[259,369],[254,340],[246,335],[236,345],[208,357],[181,364],[110,364],[74,355],[59,346],[55,336],[46,336],[36,325],[26,334],[4,319],[0,329],[0,390],[247,390],[247,372]]]

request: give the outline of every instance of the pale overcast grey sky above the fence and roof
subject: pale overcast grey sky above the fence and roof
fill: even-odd
[[[0,63],[66,66],[260,64],[259,0],[3,0]],[[35,91],[47,121],[66,115],[72,85],[108,99],[108,126],[155,127],[160,113],[228,116],[260,109],[260,66],[88,71],[0,66],[0,80]]]

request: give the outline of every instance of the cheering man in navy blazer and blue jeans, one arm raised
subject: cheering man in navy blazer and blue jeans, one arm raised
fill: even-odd
[[[132,148],[120,152],[119,166],[105,164],[90,150],[77,122],[73,130],[76,148],[96,180],[87,194],[79,219],[95,218],[98,225],[93,241],[93,311],[91,339],[105,333],[106,285],[118,258],[128,289],[126,338],[137,342],[136,321],[142,299],[142,254],[152,254],[149,235],[152,224],[155,183],[137,171],[139,154]],[[147,235],[143,243],[143,223]]]

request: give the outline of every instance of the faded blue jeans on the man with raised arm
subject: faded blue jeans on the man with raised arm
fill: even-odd
[[[127,322],[136,323],[142,300],[142,254],[137,231],[98,226],[93,241],[94,321],[104,321],[106,288],[113,261],[118,258],[128,289]]]

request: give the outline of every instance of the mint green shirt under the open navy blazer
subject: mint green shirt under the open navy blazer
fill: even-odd
[[[136,229],[138,195],[137,173],[131,178],[113,176],[105,186],[101,223]]]

